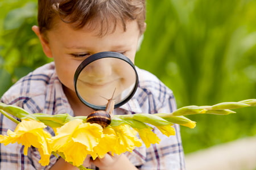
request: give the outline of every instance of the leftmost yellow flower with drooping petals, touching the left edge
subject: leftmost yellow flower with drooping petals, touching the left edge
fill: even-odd
[[[43,130],[47,126],[42,122],[35,120],[22,120],[14,131],[8,130],[7,136],[1,135],[0,143],[9,145],[9,143],[21,143],[24,145],[24,155],[27,155],[28,147],[34,146],[38,148],[41,155],[39,163],[43,166],[49,164],[49,156],[51,154],[48,141],[51,134]]]

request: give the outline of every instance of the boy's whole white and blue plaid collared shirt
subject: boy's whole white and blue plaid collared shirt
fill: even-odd
[[[139,87],[132,99],[125,105],[115,109],[115,114],[134,113],[170,113],[176,109],[176,103],[172,91],[168,89],[154,75],[147,71],[138,69]],[[54,63],[48,63],[39,67],[32,73],[24,76],[14,84],[1,98],[1,102],[17,105],[30,113],[60,114],[73,111],[68,103],[57,78]],[[1,134],[7,130],[14,130],[16,124],[0,114]],[[126,152],[127,158],[138,169],[147,170],[181,170],[184,168],[184,154],[181,146],[179,126],[174,125],[176,135],[166,137],[154,129],[161,139],[156,145],[149,148],[137,147],[133,152]],[[54,132],[48,128],[49,133]],[[23,154],[24,147],[14,143],[0,146],[0,169],[50,169],[57,158],[51,156],[50,164],[42,167],[39,152],[30,147],[27,156]],[[93,168],[93,167],[91,167]],[[94,167],[95,168],[95,167]]]

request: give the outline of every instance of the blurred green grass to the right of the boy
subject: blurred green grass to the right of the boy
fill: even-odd
[[[148,1],[147,30],[135,63],[174,91],[178,107],[255,98],[255,1]],[[191,116],[181,127],[186,153],[256,134],[255,108]]]

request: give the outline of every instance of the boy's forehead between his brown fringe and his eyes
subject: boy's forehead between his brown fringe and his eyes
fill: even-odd
[[[139,39],[139,28],[135,21],[127,22],[127,29],[117,24],[114,32],[108,32],[99,36],[100,29],[83,27],[73,29],[71,25],[63,22],[56,24],[55,28],[47,32],[48,42],[54,44],[55,48],[67,50],[90,50],[93,52],[121,50],[122,48],[134,48]]]

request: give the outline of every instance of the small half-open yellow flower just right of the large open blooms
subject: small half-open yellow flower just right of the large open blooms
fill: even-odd
[[[143,128],[143,129],[135,128],[135,130],[138,131],[139,137],[141,137],[146,147],[150,147],[151,144],[160,142],[160,139],[158,138],[158,136],[154,132],[152,132],[150,128]]]

